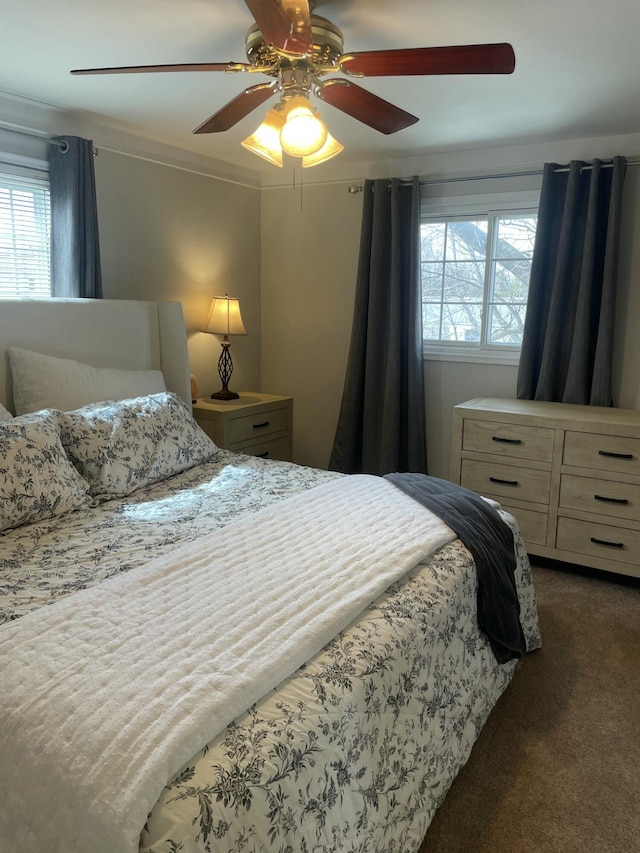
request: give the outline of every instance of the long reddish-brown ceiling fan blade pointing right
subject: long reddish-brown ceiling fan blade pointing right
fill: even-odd
[[[423,74],[511,74],[516,57],[510,44],[462,44],[352,53],[342,61],[347,74],[398,77]]]

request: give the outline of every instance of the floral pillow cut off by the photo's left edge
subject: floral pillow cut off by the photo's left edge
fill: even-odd
[[[0,530],[89,503],[88,485],[62,447],[56,413],[0,423]]]

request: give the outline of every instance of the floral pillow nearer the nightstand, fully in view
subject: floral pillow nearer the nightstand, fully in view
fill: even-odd
[[[170,392],[92,403],[59,417],[62,444],[99,500],[129,495],[219,452]]]

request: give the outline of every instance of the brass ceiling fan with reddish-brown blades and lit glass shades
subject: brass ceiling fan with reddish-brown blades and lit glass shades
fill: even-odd
[[[282,165],[282,152],[278,151],[281,146],[287,153],[302,157],[303,166],[309,166],[324,162],[342,150],[340,143],[327,133],[317,117],[317,110],[311,107],[310,95],[380,133],[396,133],[418,121],[416,116],[367,91],[353,79],[327,78],[328,74],[342,73],[347,78],[511,74],[515,68],[513,48],[506,43],[343,53],[342,32],[326,18],[314,14],[312,0],[245,0],[245,3],[255,20],[246,35],[246,63],[132,65],[75,69],[71,73],[224,71],[265,74],[274,78],[273,82],[258,83],[245,89],[193,132],[229,130],[278,94],[280,102],[269,110],[265,122],[253,137],[244,140],[243,145],[277,165]],[[284,131],[285,127],[291,132]],[[291,141],[295,137],[294,131],[303,128],[303,142]],[[261,130],[264,131],[262,134]],[[308,141],[310,132],[312,135],[315,133],[313,141]]]

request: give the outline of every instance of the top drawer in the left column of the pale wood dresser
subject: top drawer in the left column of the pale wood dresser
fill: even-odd
[[[463,427],[462,449],[477,453],[494,453],[513,459],[551,462],[553,430],[467,418]]]

